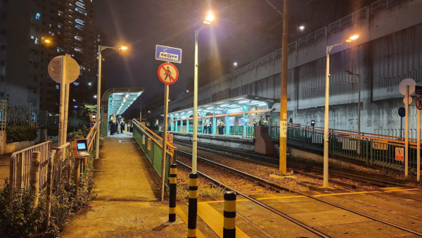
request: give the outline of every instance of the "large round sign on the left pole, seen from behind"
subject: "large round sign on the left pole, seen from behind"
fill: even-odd
[[[73,59],[70,55],[66,54],[65,56],[56,56],[54,57],[48,67],[50,77],[57,83],[60,82],[60,77],[62,73],[61,63],[63,58],[66,57],[66,84],[70,84],[77,80],[79,77],[79,64]]]

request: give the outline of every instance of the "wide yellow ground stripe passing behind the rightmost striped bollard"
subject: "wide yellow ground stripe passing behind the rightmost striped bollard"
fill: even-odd
[[[208,203],[198,203],[198,215],[219,236],[223,237],[224,217]],[[249,237],[236,226],[236,237]]]

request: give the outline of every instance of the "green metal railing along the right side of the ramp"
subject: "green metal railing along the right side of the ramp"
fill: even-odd
[[[132,120],[134,127],[133,127],[133,137],[138,143],[139,147],[145,154],[148,161],[151,162],[153,165],[153,169],[161,177],[162,172],[162,138],[155,134],[152,130],[150,130],[146,125],[143,123],[139,123],[136,120]],[[166,161],[165,161],[165,185],[167,186],[168,183],[168,171],[170,163],[174,163],[176,160],[176,151],[177,147],[174,147],[172,144],[167,142],[167,153],[166,153]]]

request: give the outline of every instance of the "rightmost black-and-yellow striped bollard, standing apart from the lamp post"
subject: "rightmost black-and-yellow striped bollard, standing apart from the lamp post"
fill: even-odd
[[[236,237],[236,193],[224,192],[223,237]]]

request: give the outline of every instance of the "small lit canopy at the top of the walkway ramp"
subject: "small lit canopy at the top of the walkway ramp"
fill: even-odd
[[[120,115],[131,106],[143,92],[143,87],[117,87],[108,89],[103,94],[103,100],[108,101],[108,115]]]

